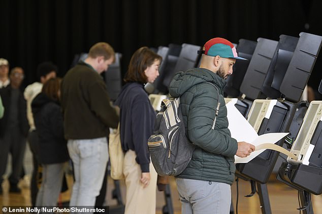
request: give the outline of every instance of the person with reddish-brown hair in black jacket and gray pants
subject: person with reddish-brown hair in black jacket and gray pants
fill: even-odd
[[[59,88],[59,78],[49,79],[31,103],[39,137],[39,159],[43,166],[43,182],[37,194],[36,206],[57,204],[64,168],[69,160],[59,105]]]

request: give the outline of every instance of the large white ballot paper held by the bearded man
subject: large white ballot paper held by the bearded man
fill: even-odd
[[[288,135],[288,133],[268,133],[259,136],[246,118],[238,111],[233,102],[227,103],[226,107],[229,122],[228,129],[231,132],[232,138],[235,138],[237,142],[245,141],[256,147],[266,143],[275,144]],[[248,157],[243,158],[235,155],[235,163],[248,163],[265,150],[266,149],[255,150]]]

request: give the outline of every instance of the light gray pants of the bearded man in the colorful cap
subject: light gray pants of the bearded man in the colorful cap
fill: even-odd
[[[229,184],[176,179],[182,214],[228,214],[231,204]]]

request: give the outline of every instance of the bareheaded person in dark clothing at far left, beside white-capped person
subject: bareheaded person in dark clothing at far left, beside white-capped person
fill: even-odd
[[[21,190],[17,185],[21,176],[29,124],[26,115],[26,101],[19,89],[24,78],[22,68],[13,68],[9,77],[8,87],[0,89],[6,109],[4,117],[0,119],[0,184],[3,182],[10,152],[12,173],[9,177],[9,192],[19,193]],[[2,192],[2,188],[0,190]]]

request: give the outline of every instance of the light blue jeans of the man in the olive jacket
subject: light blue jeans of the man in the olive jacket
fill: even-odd
[[[67,147],[75,176],[70,206],[94,207],[109,158],[107,138],[68,140]]]

